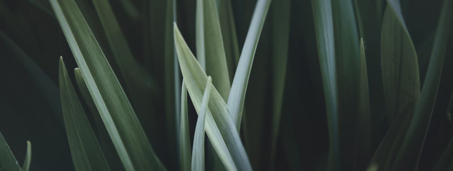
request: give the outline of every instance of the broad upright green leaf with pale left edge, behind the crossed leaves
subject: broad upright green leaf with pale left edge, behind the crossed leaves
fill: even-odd
[[[198,61],[206,74],[213,77],[212,84],[219,91],[223,100],[227,100],[231,82],[214,0],[197,0],[196,15]]]

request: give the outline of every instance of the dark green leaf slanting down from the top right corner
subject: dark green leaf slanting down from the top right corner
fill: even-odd
[[[420,99],[415,106],[414,117],[401,145],[392,170],[415,170],[428,132],[434,104],[439,90],[443,61],[447,49],[448,32],[451,25],[452,1],[444,0],[434,38],[433,50]]]

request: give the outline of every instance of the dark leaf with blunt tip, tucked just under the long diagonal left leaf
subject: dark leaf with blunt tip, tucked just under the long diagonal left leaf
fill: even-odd
[[[85,84],[85,80],[83,80],[82,72],[80,68],[74,69],[74,75],[76,77],[77,86],[82,94],[83,99],[88,105],[90,109],[91,115],[94,119],[96,124],[96,130],[98,133],[99,143],[104,151],[107,161],[109,165],[114,170],[124,170],[124,167],[121,165],[120,157],[118,153],[116,153],[115,146],[113,145],[112,140],[110,139],[109,133],[107,132],[106,126],[104,122],[102,122],[101,115],[96,109],[96,104],[94,104],[93,98],[90,95],[90,91],[88,90],[87,84]]]

